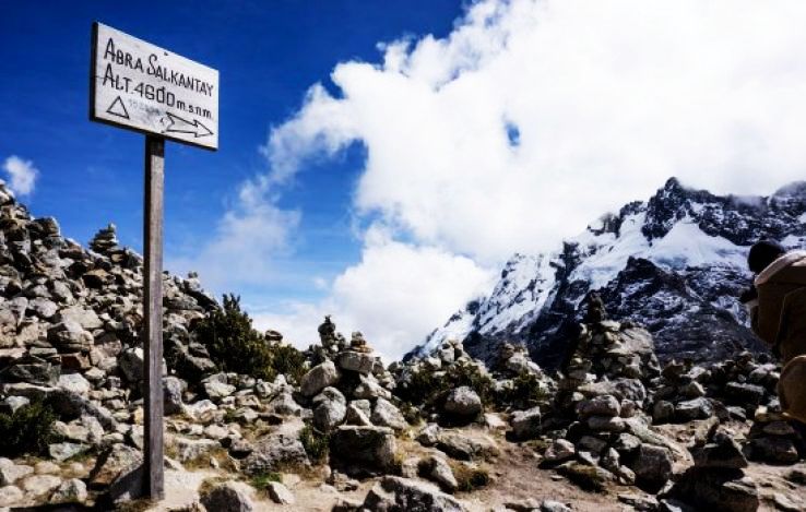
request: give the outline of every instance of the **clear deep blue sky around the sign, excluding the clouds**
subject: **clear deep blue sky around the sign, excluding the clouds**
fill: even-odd
[[[121,242],[140,249],[143,136],[87,120],[91,24],[216,68],[221,150],[167,147],[166,259],[192,254],[238,184],[265,170],[259,146],[270,128],[296,110],[312,83],[328,85],[335,62],[375,60],[377,43],[403,34],[446,34],[460,13],[453,0],[5,2],[0,158],[33,160],[40,176],[23,199],[34,214],[57,217],[66,236],[86,242],[114,222]],[[262,299],[322,294],[307,276],[332,277],[359,258],[348,212],[360,159],[356,146],[285,189],[280,204],[304,215],[293,258],[282,265],[288,275]]]

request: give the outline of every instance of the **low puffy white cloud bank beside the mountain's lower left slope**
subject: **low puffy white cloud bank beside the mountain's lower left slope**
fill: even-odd
[[[469,258],[394,241],[376,229],[366,238],[361,261],[335,279],[325,300],[291,303],[286,314],[257,313],[256,325],[307,346],[323,315],[332,314],[345,336],[361,331],[391,360],[493,284],[494,274]]]

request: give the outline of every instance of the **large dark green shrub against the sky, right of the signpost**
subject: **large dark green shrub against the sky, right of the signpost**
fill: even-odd
[[[252,319],[240,309],[240,298],[224,295],[224,307],[193,325],[193,334],[222,370],[268,381],[284,373],[295,380],[305,374],[305,356],[291,345],[271,345],[252,329]]]

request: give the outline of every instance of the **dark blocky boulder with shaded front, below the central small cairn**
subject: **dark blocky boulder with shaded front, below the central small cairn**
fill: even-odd
[[[334,431],[330,449],[336,461],[390,472],[394,468],[398,444],[388,427],[342,426]]]

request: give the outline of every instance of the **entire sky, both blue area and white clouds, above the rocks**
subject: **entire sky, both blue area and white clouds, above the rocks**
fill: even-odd
[[[143,138],[87,120],[91,24],[218,69],[221,151],[166,151],[166,266],[299,345],[333,313],[398,357],[671,176],[806,176],[801,0],[128,5],[2,3],[0,163],[67,236],[139,249]]]

